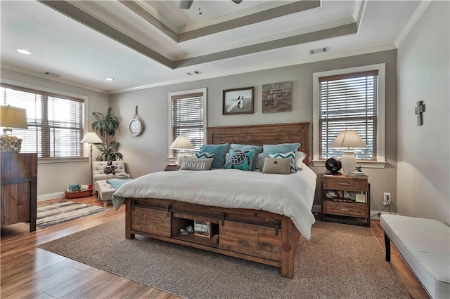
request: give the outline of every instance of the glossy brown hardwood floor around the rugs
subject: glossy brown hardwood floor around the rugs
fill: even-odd
[[[70,200],[102,206],[96,197]],[[111,211],[37,228],[36,232],[29,232],[25,223],[1,228],[0,298],[179,298],[36,247],[124,215],[124,206],[119,211],[109,207]],[[379,221],[372,220],[371,227],[384,250]],[[397,250],[392,248],[391,253],[392,268],[411,298],[429,298]]]

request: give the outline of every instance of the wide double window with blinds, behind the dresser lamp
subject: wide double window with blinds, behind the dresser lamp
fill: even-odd
[[[1,84],[4,102],[27,109],[28,129],[15,129],[23,138],[20,152],[37,152],[39,158],[82,157],[84,100]]]

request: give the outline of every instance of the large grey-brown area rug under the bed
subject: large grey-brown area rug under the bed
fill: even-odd
[[[368,227],[314,224],[292,280],[276,267],[124,234],[120,218],[38,247],[186,298],[409,298]]]

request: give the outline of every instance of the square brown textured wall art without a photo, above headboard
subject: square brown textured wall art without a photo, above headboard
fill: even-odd
[[[292,111],[292,82],[264,84],[262,86],[262,113]]]

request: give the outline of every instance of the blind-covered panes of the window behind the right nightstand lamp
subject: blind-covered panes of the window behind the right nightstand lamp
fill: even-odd
[[[377,161],[378,70],[319,77],[319,159],[342,156],[329,146],[342,130],[355,130],[367,149],[356,159]]]

